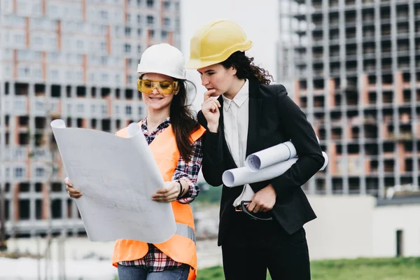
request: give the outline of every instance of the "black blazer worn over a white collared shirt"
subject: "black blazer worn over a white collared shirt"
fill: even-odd
[[[203,137],[204,156],[202,172],[211,186],[223,185],[222,174],[225,170],[236,168],[235,161],[226,144],[223,131],[223,98],[221,117],[217,133],[207,131]],[[207,128],[207,120],[202,111],[198,122]],[[293,141],[299,159],[287,172],[272,180],[252,183],[256,193],[272,183],[276,191],[276,204],[272,209],[274,220],[289,234],[302,228],[304,223],[316,218],[301,186],[323,166],[324,158],[315,132],[306,116],[290,97],[283,85],[262,85],[257,80],[249,80],[249,124],[246,155],[275,146],[285,141]],[[223,186],[221,197],[218,245],[223,244],[232,219],[235,218],[234,200],[241,194],[243,187]]]

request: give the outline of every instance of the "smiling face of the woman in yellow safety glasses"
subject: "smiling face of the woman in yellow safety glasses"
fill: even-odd
[[[153,81],[169,81],[172,82],[174,79],[172,77],[158,74],[158,73],[146,73],[141,77],[143,80],[153,80]],[[179,89],[177,89],[172,94],[161,94],[158,88],[153,88],[151,94],[144,94],[143,96],[144,103],[148,106],[148,109],[153,110],[162,110],[171,105],[172,99],[174,99],[174,94],[177,94]]]

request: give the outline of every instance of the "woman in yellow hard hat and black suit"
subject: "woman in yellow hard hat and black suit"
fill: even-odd
[[[235,22],[204,25],[190,44],[186,66],[207,88],[198,114],[207,128],[204,179],[221,186],[223,172],[244,167],[247,155],[290,139],[299,156],[272,180],[223,186],[218,245],[225,279],[262,280],[267,268],[272,279],[310,279],[302,226],[316,216],[300,186],[324,163],[314,130],[283,85],[269,85],[269,73],[245,55],[252,43]]]

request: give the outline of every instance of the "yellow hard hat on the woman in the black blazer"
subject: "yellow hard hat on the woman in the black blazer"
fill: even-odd
[[[190,43],[187,69],[200,69],[224,62],[238,50],[249,50],[252,41],[235,22],[214,20],[198,29]]]

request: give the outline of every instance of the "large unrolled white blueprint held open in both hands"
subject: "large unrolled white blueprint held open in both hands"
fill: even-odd
[[[154,202],[165,186],[139,125],[129,138],[53,120],[52,132],[73,186],[83,193],[76,204],[91,241],[167,241],[176,231],[170,203]]]

